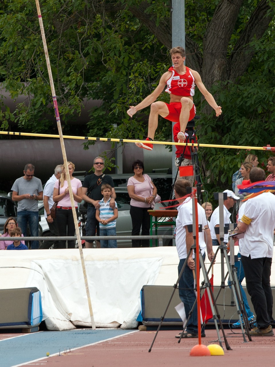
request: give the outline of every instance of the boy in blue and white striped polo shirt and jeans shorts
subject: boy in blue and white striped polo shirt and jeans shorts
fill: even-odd
[[[103,199],[99,201],[99,209],[96,209],[96,220],[99,221],[100,236],[115,236],[115,223],[118,217],[117,203],[115,208],[110,207],[112,187],[106,183],[101,186]],[[101,248],[117,248],[117,240],[100,240]]]

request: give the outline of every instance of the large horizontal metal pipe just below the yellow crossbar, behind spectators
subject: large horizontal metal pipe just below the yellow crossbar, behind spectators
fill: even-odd
[[[1,132],[0,132],[1,133]],[[62,150],[58,139],[8,139],[1,140],[0,144],[0,171],[6,181],[15,180],[23,175],[26,163],[35,166],[34,174],[42,183],[46,182],[54,173],[54,168],[63,163]],[[146,173],[153,169],[172,169],[172,152],[163,145],[157,145],[152,151],[138,148],[135,144],[125,143],[120,146],[121,151],[112,148],[112,142],[96,141],[88,150],[83,149],[84,141],[80,139],[68,139],[64,137],[64,145],[67,158],[74,163],[76,171],[89,171],[93,167],[95,157],[106,152],[110,159],[118,156],[114,162],[119,167],[119,173],[132,175],[132,163],[136,159],[143,161]],[[116,154],[117,152],[117,154]],[[3,175],[3,172],[5,174]],[[115,168],[108,169],[104,173],[117,173]],[[11,188],[12,184],[10,185]]]

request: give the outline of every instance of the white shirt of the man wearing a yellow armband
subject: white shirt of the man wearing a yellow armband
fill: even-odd
[[[244,208],[243,208],[244,207]],[[239,220],[248,224],[239,240],[243,256],[252,259],[272,257],[275,229],[275,196],[264,192],[246,201],[239,211]]]

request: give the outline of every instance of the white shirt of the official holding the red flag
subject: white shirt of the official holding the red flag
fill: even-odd
[[[192,199],[188,197],[184,202],[177,207],[178,214],[176,218],[176,247],[179,259],[186,259],[186,230],[184,226],[193,224],[193,210],[192,210]],[[202,227],[208,227],[206,220],[205,210],[198,204],[198,223]],[[206,243],[204,240],[204,232],[199,232],[199,247],[201,248],[202,255],[205,253]],[[194,251],[192,258],[195,257]]]

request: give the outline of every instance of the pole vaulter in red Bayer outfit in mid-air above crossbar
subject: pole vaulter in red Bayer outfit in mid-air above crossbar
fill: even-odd
[[[128,115],[133,117],[137,111],[151,105],[148,121],[148,137],[146,138],[148,143],[136,142],[137,146],[147,150],[153,149],[153,144],[150,141],[154,140],[155,131],[158,127],[158,115],[164,117],[164,119],[179,122],[180,132],[177,134],[177,138],[180,143],[184,141],[184,132],[187,123],[194,119],[196,114],[196,107],[193,103],[195,86],[199,88],[206,101],[215,110],[216,116],[221,115],[221,107],[217,105],[213,95],[205,88],[199,73],[184,65],[186,58],[184,48],[173,47],[170,50],[170,55],[173,66],[161,76],[157,88],[139,104],[130,106],[127,111]],[[162,101],[155,102],[165,86],[165,92],[170,94],[170,103]]]

